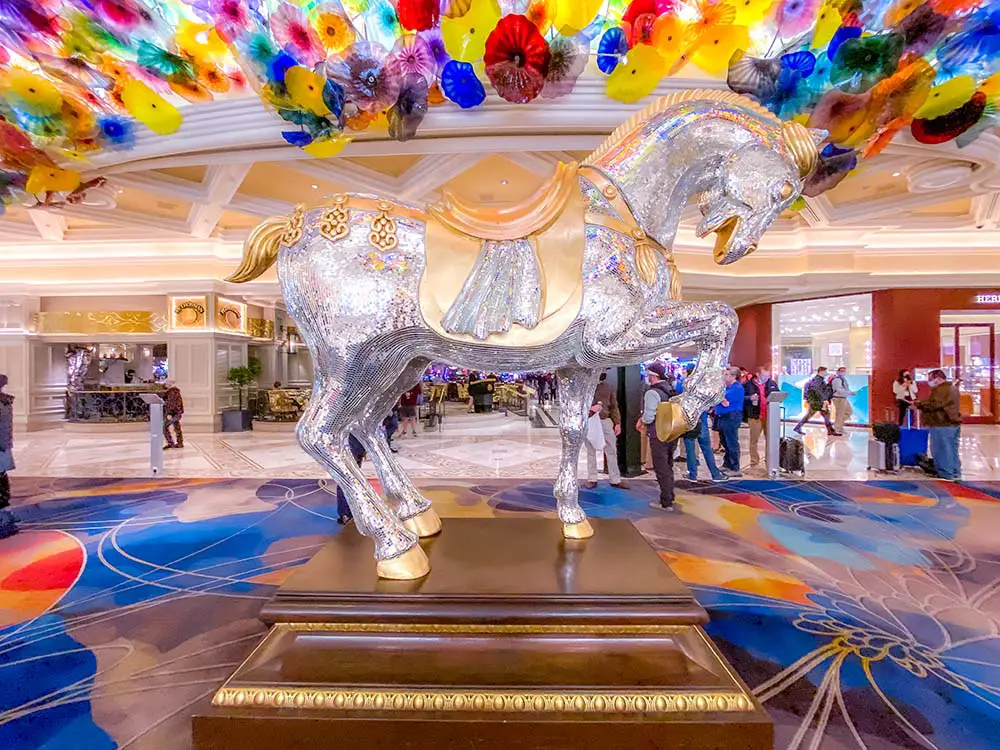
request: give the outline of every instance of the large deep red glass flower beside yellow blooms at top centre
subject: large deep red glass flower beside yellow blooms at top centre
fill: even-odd
[[[486,75],[501,98],[530,102],[545,85],[551,52],[535,24],[525,16],[500,19],[486,40]]]

